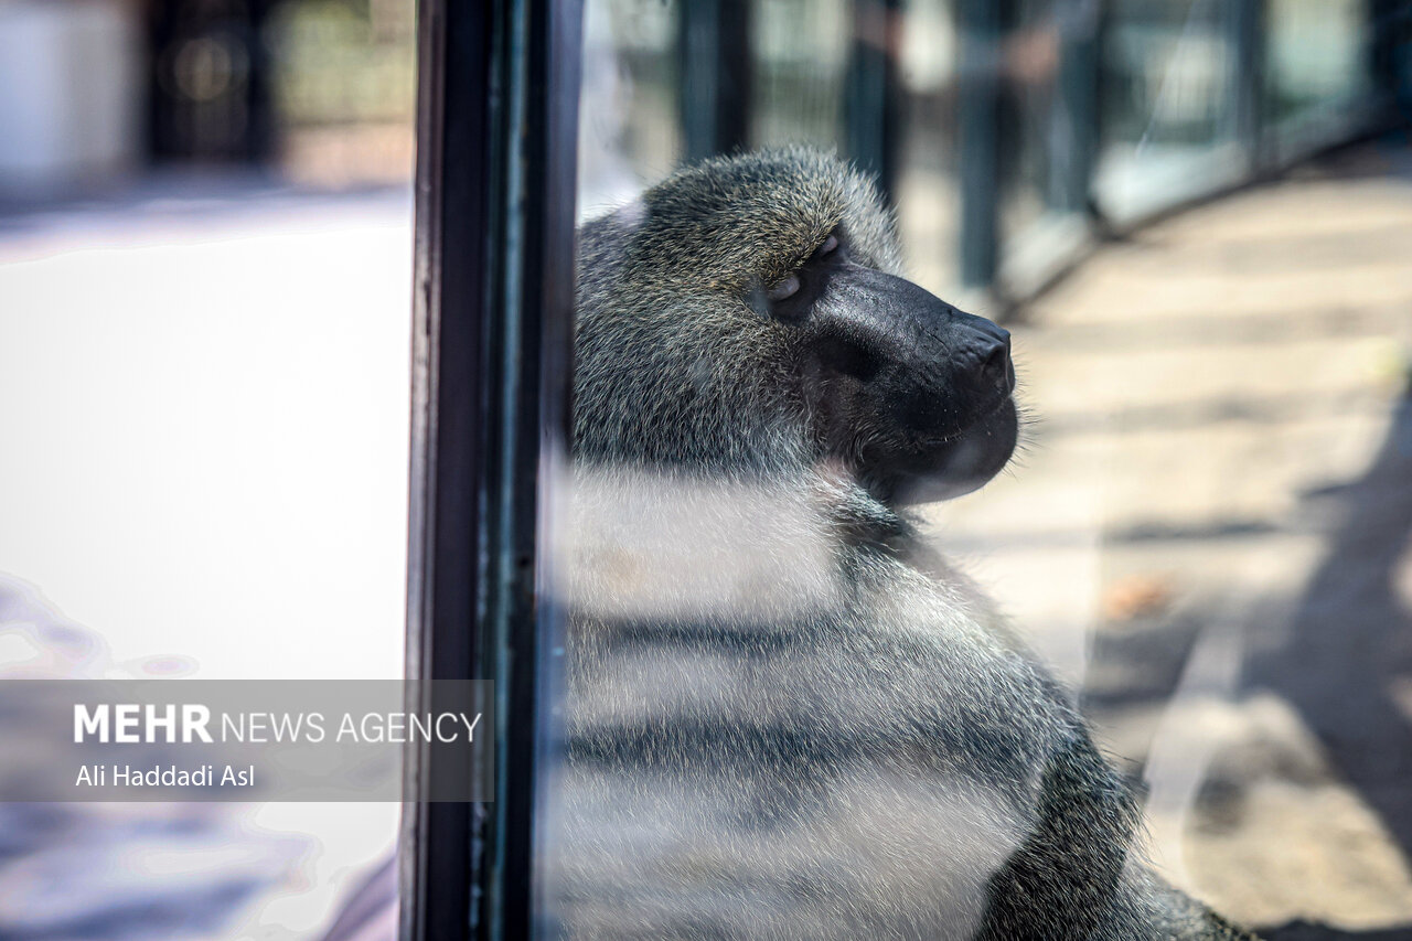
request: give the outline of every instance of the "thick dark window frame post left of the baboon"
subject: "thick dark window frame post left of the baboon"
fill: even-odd
[[[493,681],[496,800],[407,752],[402,941],[528,938],[568,461],[579,0],[419,0],[408,708]],[[467,704],[484,708],[491,704]],[[462,791],[469,793],[469,791]]]

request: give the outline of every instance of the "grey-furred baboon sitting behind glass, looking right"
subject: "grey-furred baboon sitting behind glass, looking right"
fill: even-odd
[[[921,538],[1010,461],[1010,336],[860,172],[709,160],[579,232],[568,938],[1251,938],[1141,860],[1070,695]]]

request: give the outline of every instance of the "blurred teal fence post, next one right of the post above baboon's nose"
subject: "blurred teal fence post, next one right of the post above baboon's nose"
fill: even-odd
[[[1086,212],[1099,151],[1099,0],[1062,0],[1049,202]]]

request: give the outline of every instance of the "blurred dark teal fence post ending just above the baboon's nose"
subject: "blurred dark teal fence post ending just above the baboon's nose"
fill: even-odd
[[[988,288],[1000,253],[1001,4],[956,0],[962,284]]]

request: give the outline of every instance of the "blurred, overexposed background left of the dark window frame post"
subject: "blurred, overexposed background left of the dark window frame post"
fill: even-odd
[[[0,0],[0,677],[402,675],[414,20]],[[0,804],[0,938],[321,937],[398,810]]]

